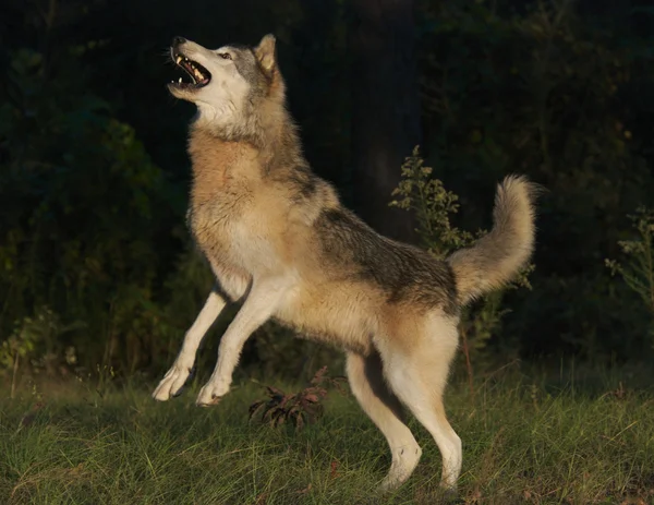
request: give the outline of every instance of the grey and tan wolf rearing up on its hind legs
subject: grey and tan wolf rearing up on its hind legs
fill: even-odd
[[[171,93],[197,105],[189,141],[187,220],[216,288],[153,396],[167,400],[181,389],[206,330],[227,301],[241,301],[197,405],[216,404],[228,393],[243,344],[276,318],[347,352],[352,392],[392,453],[384,488],[404,482],[420,459],[403,422],[404,405],[434,436],[443,485],[453,489],[461,441],[447,421],[443,392],[458,346],[459,312],[528,261],[532,185],[521,177],[505,179],[493,231],[437,261],[373,231],[311,171],[286,109],[272,36],[255,48],[210,51],[185,41],[173,51],[211,73],[203,88],[171,85]],[[219,56],[226,51],[231,60]]]

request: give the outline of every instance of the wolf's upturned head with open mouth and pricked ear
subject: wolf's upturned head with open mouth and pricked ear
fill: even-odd
[[[257,110],[283,107],[283,80],[272,35],[266,35],[256,47],[230,45],[215,50],[174,37],[170,56],[192,82],[180,79],[168,84],[168,89],[177,98],[194,103],[203,122],[243,130],[256,120]]]

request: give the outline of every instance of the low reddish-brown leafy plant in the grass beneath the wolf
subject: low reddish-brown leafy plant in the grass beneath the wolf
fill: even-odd
[[[286,394],[281,389],[266,386],[269,400],[258,400],[250,406],[250,419],[258,413],[261,421],[272,428],[291,423],[295,430],[302,430],[305,424],[312,424],[323,417],[323,400],[327,396],[326,386],[341,390],[343,377],[329,377],[327,366],[318,370],[311,380],[311,385],[299,393]]]

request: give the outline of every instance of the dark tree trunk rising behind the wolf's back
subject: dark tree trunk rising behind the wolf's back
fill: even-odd
[[[413,0],[352,0],[352,182],[359,215],[380,233],[414,241],[413,218],[389,207],[400,166],[420,144]]]

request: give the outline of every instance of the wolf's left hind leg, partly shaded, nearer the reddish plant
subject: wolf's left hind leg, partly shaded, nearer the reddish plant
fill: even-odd
[[[402,420],[402,406],[384,383],[379,356],[376,352],[368,357],[349,352],[347,370],[352,393],[390,447],[392,462],[380,488],[395,489],[409,479],[422,449]]]

